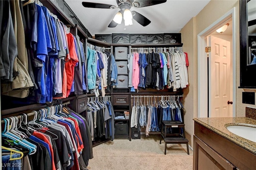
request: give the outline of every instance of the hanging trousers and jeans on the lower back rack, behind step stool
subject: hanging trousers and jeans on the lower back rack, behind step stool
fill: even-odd
[[[183,120],[182,95],[131,95],[132,113],[130,127],[150,132],[160,132],[162,121]]]

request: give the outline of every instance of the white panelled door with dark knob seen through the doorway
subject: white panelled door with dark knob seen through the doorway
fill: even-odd
[[[209,36],[209,117],[232,117],[230,42]]]

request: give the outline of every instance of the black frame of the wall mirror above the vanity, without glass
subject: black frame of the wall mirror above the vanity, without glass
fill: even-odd
[[[248,20],[247,2],[240,0],[240,87],[244,89],[256,89],[256,65],[247,65],[248,57]]]

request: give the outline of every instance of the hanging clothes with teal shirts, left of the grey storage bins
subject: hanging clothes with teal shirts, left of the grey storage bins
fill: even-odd
[[[110,93],[110,86],[117,85],[117,66],[109,47],[87,43],[88,91],[96,97]]]

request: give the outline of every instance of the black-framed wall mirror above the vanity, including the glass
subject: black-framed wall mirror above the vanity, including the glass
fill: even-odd
[[[256,89],[256,0],[240,0],[240,87]]]

